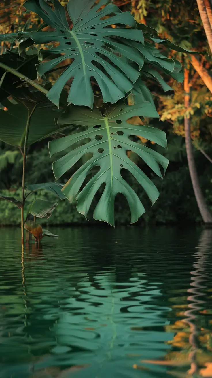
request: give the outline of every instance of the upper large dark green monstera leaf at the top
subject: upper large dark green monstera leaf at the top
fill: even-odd
[[[128,39],[144,44],[143,33],[136,29],[132,14],[121,12],[111,0],[100,0],[95,6],[93,6],[95,0],[70,0],[67,5],[73,22],[73,28],[70,30],[65,9],[58,0],[52,0],[52,3],[54,11],[45,0],[27,0],[24,6],[29,11],[36,12],[55,31],[19,34],[19,40],[30,37],[35,44],[59,42],[59,46],[49,49],[48,52],[63,55],[37,65],[40,77],[45,76],[46,72],[63,60],[73,59],[50,89],[47,97],[59,106],[60,93],[64,85],[74,77],[68,102],[93,108],[91,77],[94,77],[102,91],[104,102],[115,103],[123,98],[132,89],[144,62],[138,50],[121,41],[116,42],[113,38],[121,37],[124,41]],[[102,9],[103,6],[105,7]],[[104,18],[112,13],[115,15]],[[119,27],[112,28],[111,25],[119,25]],[[124,25],[131,28],[125,28]],[[19,52],[21,53],[24,48],[25,42],[20,43]],[[40,60],[43,52],[46,50],[39,51]],[[133,68],[117,52],[136,62],[138,69]]]

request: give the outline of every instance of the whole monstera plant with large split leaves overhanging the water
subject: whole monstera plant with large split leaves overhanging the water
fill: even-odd
[[[26,100],[21,101],[27,108],[26,127],[22,129],[21,136],[15,140],[15,143],[19,147],[24,146],[22,208],[25,199],[24,172],[27,145],[56,133],[61,128],[71,126],[74,133],[55,139],[49,145],[51,154],[73,145],[75,147],[53,164],[56,179],[62,177],[86,153],[90,153],[90,159],[82,163],[63,187],[65,197],[70,201],[77,198],[77,209],[86,216],[94,195],[104,184],[105,188],[94,211],[94,218],[114,225],[115,196],[121,192],[130,206],[131,223],[136,222],[145,209],[132,187],[124,180],[122,169],[127,169],[134,175],[152,203],[156,201],[159,193],[150,179],[128,158],[127,152],[133,150],[153,172],[162,177],[159,164],[165,171],[167,159],[136,142],[139,138],[145,138],[166,147],[166,135],[156,128],[130,123],[128,120],[134,116],[139,116],[142,120],[145,120],[145,117],[158,117],[152,94],[146,87],[147,79],[158,81],[164,91],[172,88],[160,73],[169,75],[179,82],[183,81],[181,63],[176,59],[168,58],[157,47],[163,46],[163,51],[170,48],[180,53],[193,53],[193,51],[183,46],[179,47],[167,39],[158,38],[155,29],[136,23],[130,12],[121,12],[111,0],[98,2],[70,0],[67,3],[68,14],[58,0],[51,0],[51,5],[45,0],[27,0],[24,6],[28,11],[36,12],[45,24],[42,24],[37,31],[29,29],[2,34],[0,40],[18,42],[21,57],[19,59],[25,59],[27,62],[29,55],[32,60],[35,58],[34,53],[31,54],[30,51],[41,46],[42,48],[38,50],[39,64],[36,64],[36,70],[37,77],[42,79],[42,82],[38,84],[34,81],[36,77],[32,77],[33,70],[33,75],[30,74],[30,77],[25,74],[24,63],[21,64],[22,72],[20,72],[19,69],[13,68],[14,64],[11,67],[0,59],[0,68],[3,70],[1,81],[4,84],[5,72],[8,72],[42,92],[48,103],[43,110],[46,112],[45,116],[51,125],[51,117],[56,116],[57,121],[54,129],[52,127],[51,130],[48,129],[42,118],[43,102],[40,105],[40,102],[32,104],[30,101],[29,106]],[[32,45],[36,47],[31,49]],[[52,79],[51,75],[59,69],[63,69],[62,74]],[[43,81],[46,81],[45,85]],[[52,81],[53,85],[49,81]],[[14,88],[15,81],[12,82]],[[20,96],[16,94],[19,88],[17,86],[15,88],[15,98],[20,102]],[[63,95],[64,88],[68,90],[66,97]],[[99,101],[99,95],[102,101]],[[66,109],[60,114],[60,110],[56,110],[48,100],[60,109],[61,107]],[[130,105],[127,105],[127,102]],[[111,105],[115,103],[116,105]],[[12,105],[10,121],[14,116],[15,107],[17,109],[18,106]],[[48,116],[48,112],[52,113],[51,116]],[[9,113],[5,112],[7,119],[6,115]],[[38,132],[34,127],[34,120],[37,119],[41,120]],[[25,130],[24,134],[23,130]],[[0,133],[2,133],[0,139],[6,141],[8,135],[5,135],[4,127]],[[94,167],[99,170],[86,183],[87,175]]]

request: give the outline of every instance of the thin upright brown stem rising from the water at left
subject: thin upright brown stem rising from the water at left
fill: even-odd
[[[26,170],[26,152],[27,152],[27,142],[28,142],[28,135],[29,135],[29,123],[32,113],[34,112],[36,105],[30,112],[28,110],[28,118],[26,123],[26,133],[25,133],[25,142],[24,142],[24,150],[23,150],[23,174],[22,174],[22,208],[21,208],[21,240],[22,244],[24,244],[24,203],[25,203],[25,170]]]

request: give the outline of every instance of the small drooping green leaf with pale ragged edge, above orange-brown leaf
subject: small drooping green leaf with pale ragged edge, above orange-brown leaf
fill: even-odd
[[[49,218],[56,207],[57,202],[36,198],[29,206],[28,213],[35,215],[37,218]]]

